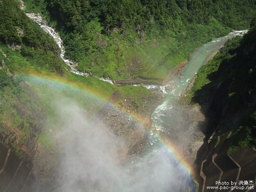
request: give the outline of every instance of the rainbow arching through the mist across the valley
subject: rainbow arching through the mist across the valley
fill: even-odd
[[[103,103],[108,102],[107,99],[108,97],[112,94],[111,92],[109,94],[102,95],[101,93],[97,92],[97,90],[93,90],[92,87],[90,86],[85,86],[82,84],[77,84],[73,81],[69,81],[69,79],[65,79],[63,77],[57,76],[55,74],[49,74],[49,73],[38,73],[36,71],[29,71],[29,73],[22,73],[22,76],[24,76],[24,79],[26,81],[30,81],[33,83],[44,83],[44,84],[52,84],[52,86],[55,89],[68,89],[71,91],[77,91],[81,93],[85,93],[85,95],[90,98],[98,99],[102,101]],[[100,83],[105,83],[109,84],[107,82],[102,82]],[[115,87],[114,85],[110,85],[111,87]],[[110,105],[114,105],[113,103],[109,103]],[[124,112],[124,111],[123,111]],[[125,113],[125,112],[124,112]],[[140,114],[137,113],[126,113],[128,116],[132,116],[136,119],[138,119],[141,123],[146,124],[146,125],[151,125],[150,118],[144,118]],[[145,127],[151,127],[151,126],[145,126]],[[165,135],[160,134],[159,131],[157,131],[154,128],[150,128],[148,130],[148,133],[151,132],[153,133],[154,137],[157,137],[158,140],[160,141],[161,145],[163,148],[165,148],[165,151],[168,151],[169,154],[171,154],[172,157],[177,161],[177,163],[182,167],[183,171],[185,172],[186,175],[188,175],[191,178],[194,178],[194,172],[193,172],[193,166],[188,163],[183,156],[183,154],[179,151],[177,148],[177,145],[173,143],[170,139],[168,139]]]

